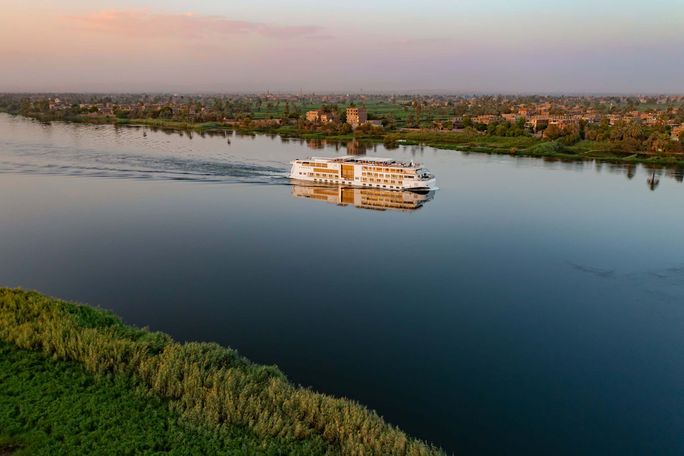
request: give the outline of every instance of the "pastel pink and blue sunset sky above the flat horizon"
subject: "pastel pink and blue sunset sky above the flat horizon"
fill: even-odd
[[[0,91],[683,93],[684,0],[0,0]]]

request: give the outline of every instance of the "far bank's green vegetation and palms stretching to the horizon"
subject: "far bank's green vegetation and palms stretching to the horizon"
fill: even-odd
[[[684,122],[682,97],[660,103],[636,97],[500,97],[500,96],[150,96],[68,95],[57,106],[41,95],[0,96],[0,111],[43,121],[65,120],[115,125],[149,125],[165,129],[195,131],[238,130],[283,137],[365,140],[398,144],[424,144],[493,154],[551,157],[564,160],[600,160],[684,166],[684,141],[673,139],[672,125]],[[54,98],[52,98],[54,100]],[[332,100],[332,101],[331,101]],[[338,103],[343,104],[338,104]],[[368,109],[369,119],[383,128],[364,125],[356,130],[344,122],[344,103],[358,102]],[[535,132],[524,119],[506,121],[500,117],[517,106],[549,106],[553,115],[579,110],[591,112],[593,122],[578,121],[559,128],[555,125]],[[338,122],[307,122],[307,110],[335,113]],[[630,114],[649,112],[656,124],[632,120]],[[494,117],[488,125],[478,116]],[[609,117],[619,117],[612,124]],[[461,119],[455,121],[454,119]],[[454,130],[454,127],[461,127]],[[683,133],[684,136],[684,133]]]

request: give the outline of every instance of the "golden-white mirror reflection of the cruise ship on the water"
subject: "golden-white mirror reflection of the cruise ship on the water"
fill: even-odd
[[[325,201],[338,206],[356,206],[376,211],[411,212],[431,201],[434,192],[415,193],[379,188],[293,184],[292,196]]]

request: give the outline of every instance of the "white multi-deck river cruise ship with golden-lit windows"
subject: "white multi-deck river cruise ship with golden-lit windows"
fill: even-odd
[[[413,162],[347,155],[311,157],[290,163],[290,178],[297,181],[387,190],[437,190],[435,176],[428,169]]]

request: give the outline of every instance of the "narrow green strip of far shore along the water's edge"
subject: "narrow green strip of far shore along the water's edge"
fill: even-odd
[[[459,131],[435,129],[401,129],[396,131],[354,132],[349,134],[328,134],[325,132],[300,131],[296,126],[255,127],[249,123],[221,122],[179,122],[160,119],[118,119],[113,116],[97,116],[72,119],[49,119],[39,116],[23,116],[43,122],[85,123],[127,127],[152,127],[162,130],[196,132],[238,131],[243,134],[275,134],[284,138],[309,140],[353,141],[382,143],[388,149],[399,145],[424,145],[442,150],[474,152],[483,154],[536,157],[563,161],[599,161],[606,163],[644,164],[665,167],[684,167],[684,153],[632,152],[622,151],[610,142],[582,140],[571,146],[558,141],[544,141],[533,136],[488,136]]]

